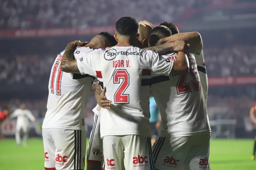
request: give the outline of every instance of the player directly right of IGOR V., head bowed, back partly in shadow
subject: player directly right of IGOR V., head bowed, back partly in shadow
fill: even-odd
[[[153,28],[148,38],[149,46],[154,46],[160,38],[169,37],[168,30],[166,26]],[[175,52],[163,57],[179,58]],[[151,83],[163,126],[153,146],[157,170],[209,170],[211,130],[194,55],[189,55],[189,74],[157,76]]]

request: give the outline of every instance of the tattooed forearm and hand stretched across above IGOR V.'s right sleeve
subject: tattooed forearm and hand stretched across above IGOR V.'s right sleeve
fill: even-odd
[[[158,54],[164,54],[167,51],[187,51],[184,41],[167,42],[155,47],[143,48],[143,50],[151,50]]]

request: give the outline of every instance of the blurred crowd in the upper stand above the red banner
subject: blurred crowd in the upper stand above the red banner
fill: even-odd
[[[226,0],[230,2],[230,0]],[[225,2],[225,3],[227,3]],[[87,28],[111,25],[116,18],[180,19],[187,8],[222,3],[221,0],[0,0],[0,29]],[[168,5],[167,5],[168,4]],[[137,10],[136,10],[137,9]],[[148,12],[150,11],[150,12]],[[161,11],[161,12],[159,12]]]

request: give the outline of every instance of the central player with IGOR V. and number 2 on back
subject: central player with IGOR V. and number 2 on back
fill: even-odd
[[[186,74],[187,57],[178,52],[176,61],[163,59],[153,51],[133,47],[137,42],[139,24],[132,17],[116,23],[117,45],[98,50],[74,60],[71,51],[77,42],[67,45],[61,67],[66,72],[97,76],[106,96],[113,101],[111,109],[103,109],[100,133],[107,169],[154,169],[151,157],[149,125],[149,92],[151,74]],[[166,46],[168,47],[168,45]],[[67,55],[66,55],[67,54]],[[150,80],[150,79],[149,79]]]

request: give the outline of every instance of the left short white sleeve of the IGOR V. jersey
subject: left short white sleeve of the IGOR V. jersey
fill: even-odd
[[[98,51],[93,51],[84,57],[76,59],[79,72],[96,77],[96,65],[98,64]]]

